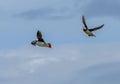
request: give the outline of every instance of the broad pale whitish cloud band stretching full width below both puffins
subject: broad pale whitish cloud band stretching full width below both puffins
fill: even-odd
[[[103,49],[103,46],[107,48]],[[69,72],[71,69],[71,72],[72,70],[79,70],[88,66],[119,61],[119,51],[116,49],[116,46],[118,47],[118,45],[86,45],[85,48],[83,45],[66,45],[53,49],[34,47],[34,49],[4,51],[0,53],[0,60],[4,64],[4,66],[1,66],[1,77],[11,77],[11,73],[13,77],[19,77],[25,74],[36,73],[36,71],[50,69],[50,66],[53,68],[68,66],[68,69],[65,68],[66,70],[63,70]],[[112,51],[112,49],[109,49],[110,47],[113,47],[115,50]],[[92,50],[89,50],[91,48]],[[61,68],[58,69],[62,70]]]

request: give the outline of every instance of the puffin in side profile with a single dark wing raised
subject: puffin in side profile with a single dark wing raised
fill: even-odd
[[[37,31],[36,36],[37,36],[37,39],[38,39],[38,40],[32,41],[32,42],[31,42],[32,45],[34,45],[34,46],[37,45],[37,46],[40,46],[40,47],[48,47],[48,48],[51,48],[51,47],[52,47],[50,43],[46,43],[46,42],[44,41],[44,39],[42,38],[42,33],[41,33],[39,30]]]

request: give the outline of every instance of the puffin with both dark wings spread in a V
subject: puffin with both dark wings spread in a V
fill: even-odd
[[[84,16],[82,16],[82,22],[83,22],[83,24],[84,24],[83,31],[84,31],[88,36],[94,36],[94,37],[96,37],[96,35],[93,34],[92,31],[96,31],[96,30],[98,30],[98,29],[101,29],[101,28],[104,26],[104,24],[102,24],[101,26],[98,26],[98,27],[95,27],[95,28],[92,28],[92,29],[88,29],[88,27],[87,27],[87,25],[86,25],[86,21],[85,21],[85,17],[84,17]]]

